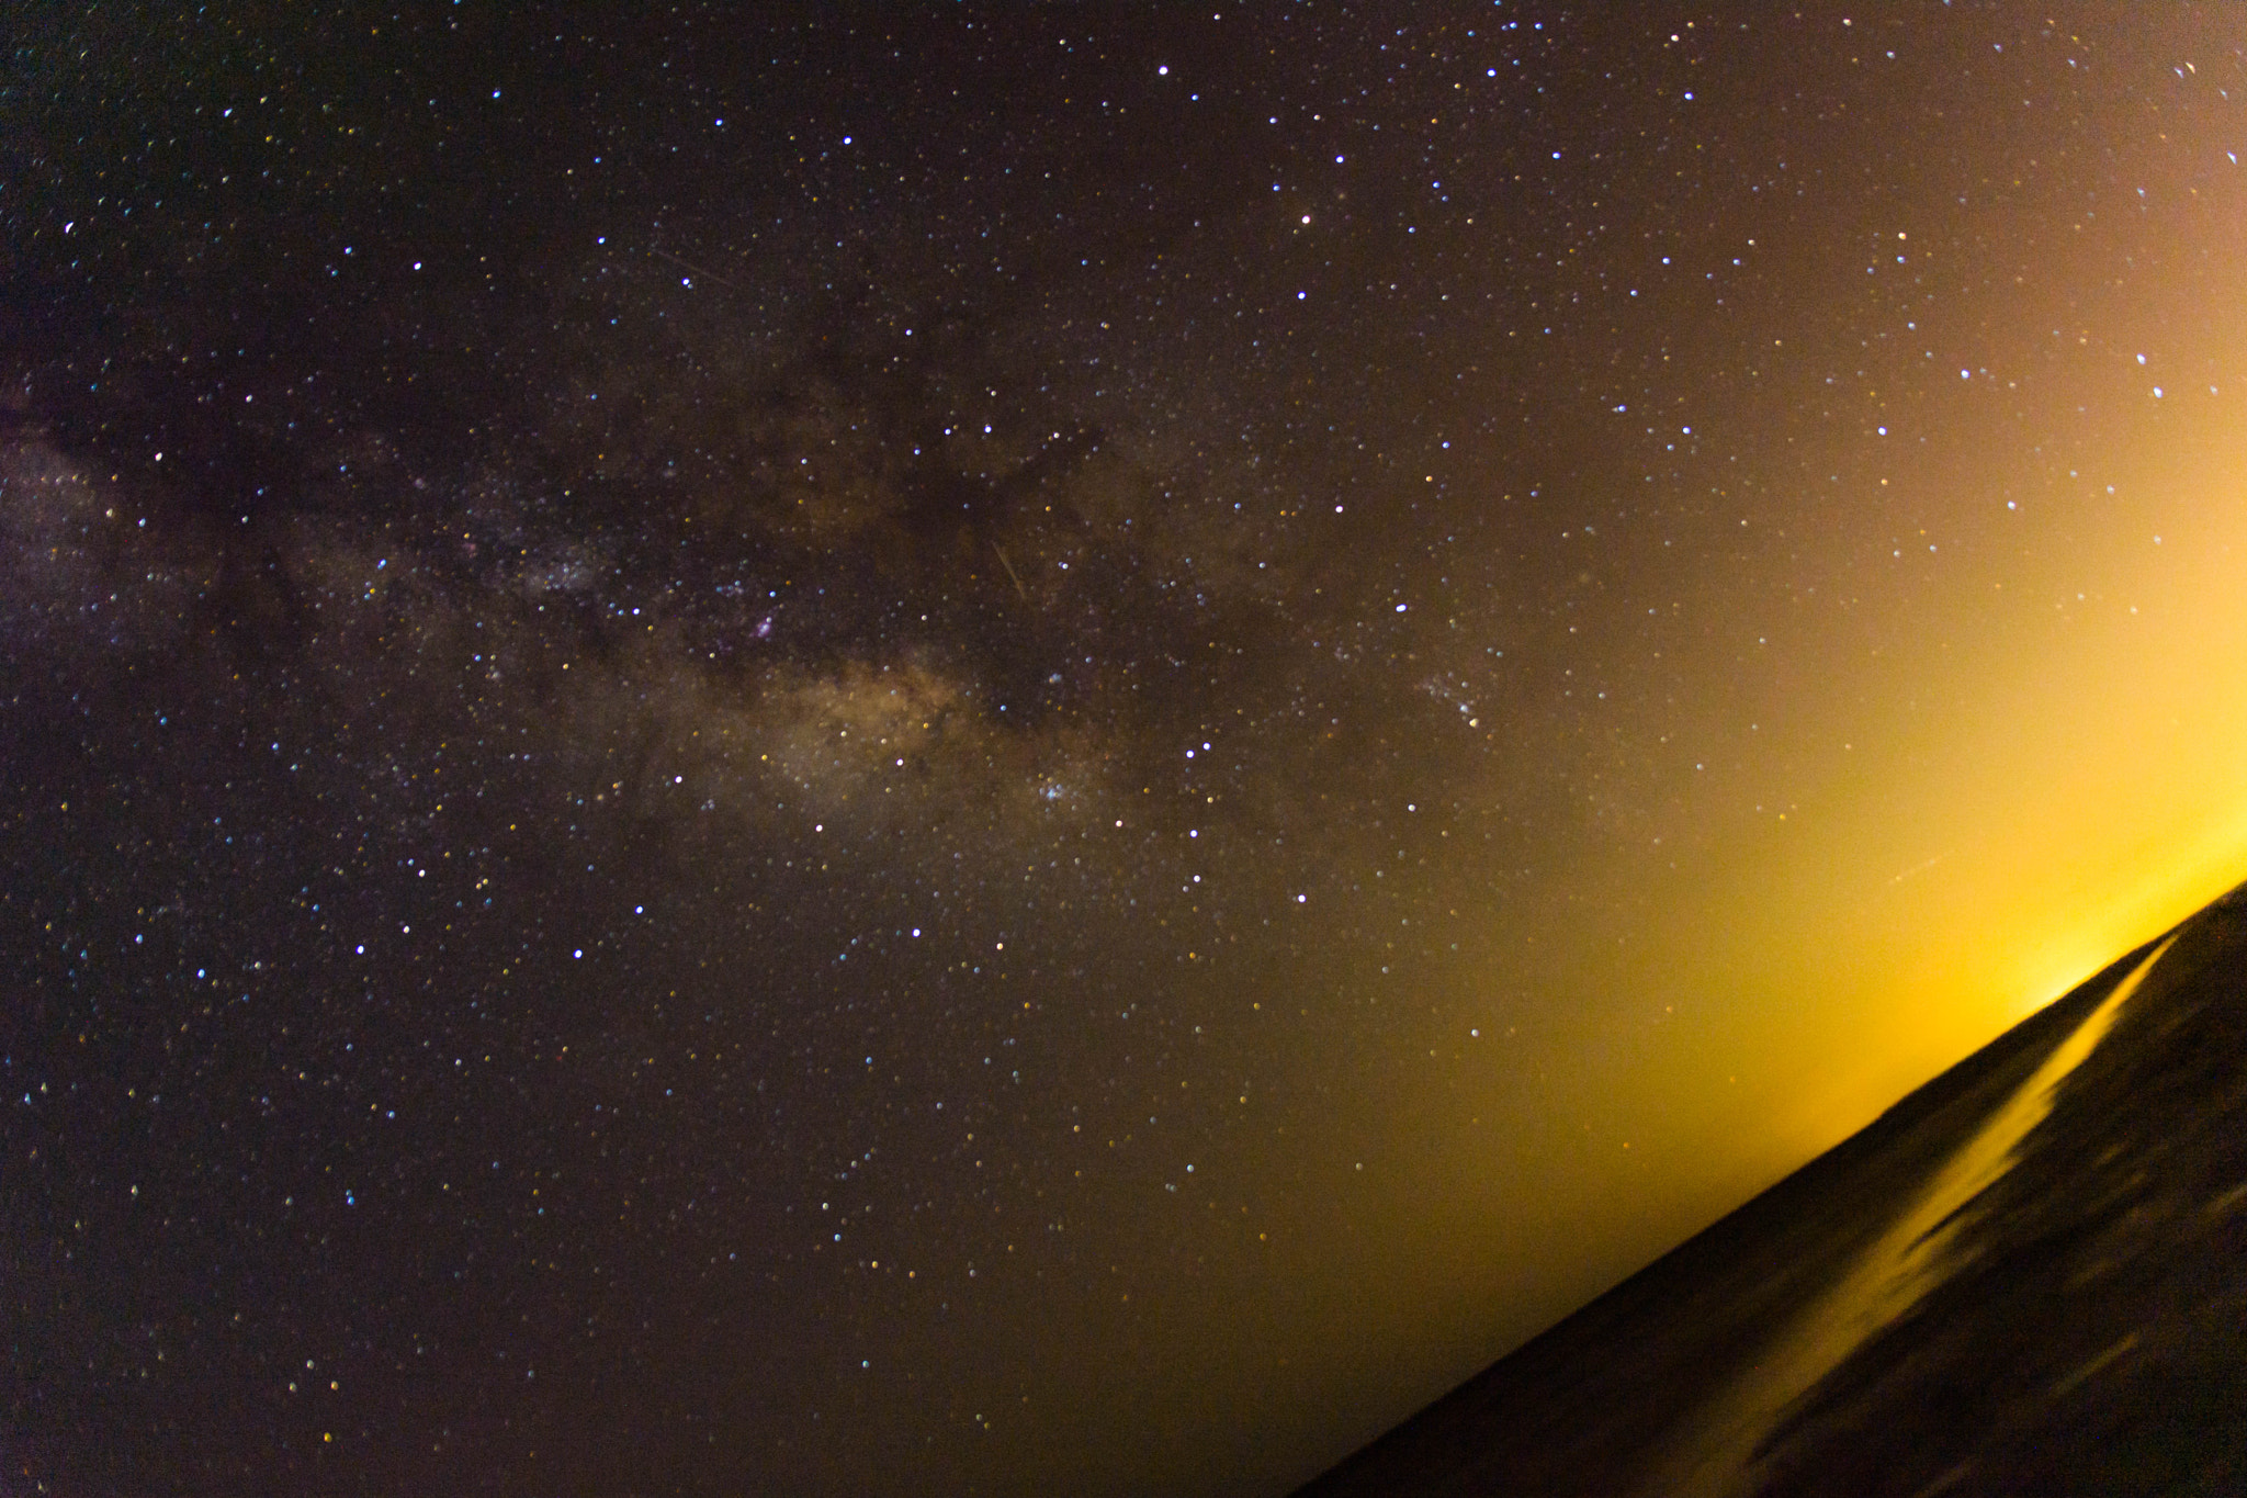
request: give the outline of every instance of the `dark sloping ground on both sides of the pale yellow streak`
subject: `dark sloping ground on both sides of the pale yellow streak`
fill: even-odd
[[[1627,1494],[2153,948],[1492,1365],[1299,1498]],[[1975,1204],[1950,1271],[1737,1491],[2247,1491],[2247,892],[2193,916]]]

